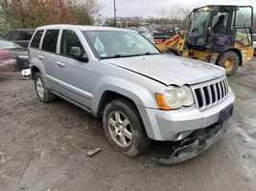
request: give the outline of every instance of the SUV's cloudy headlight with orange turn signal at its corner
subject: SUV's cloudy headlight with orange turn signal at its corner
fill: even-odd
[[[160,96],[162,100],[160,100]],[[165,110],[177,109],[182,106],[191,106],[194,104],[194,98],[188,86],[168,86],[163,95],[155,95],[155,97],[159,108]]]

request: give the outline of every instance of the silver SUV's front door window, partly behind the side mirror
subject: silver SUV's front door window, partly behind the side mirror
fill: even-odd
[[[60,42],[60,54],[66,55],[68,57],[73,57],[70,54],[71,47],[80,47],[81,53],[85,53],[81,46],[81,41],[76,32],[63,30]]]

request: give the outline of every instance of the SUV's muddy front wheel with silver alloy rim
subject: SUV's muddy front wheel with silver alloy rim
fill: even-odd
[[[151,144],[136,107],[126,99],[106,105],[103,123],[106,138],[123,155],[137,156]]]

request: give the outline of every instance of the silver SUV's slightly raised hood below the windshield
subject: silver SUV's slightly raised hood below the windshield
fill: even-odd
[[[213,64],[166,54],[111,58],[105,62],[166,85],[192,85],[225,75],[221,67]]]

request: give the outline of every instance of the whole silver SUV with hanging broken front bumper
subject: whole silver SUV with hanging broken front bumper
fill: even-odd
[[[29,45],[35,92],[103,118],[105,136],[131,157],[171,140],[169,164],[191,159],[230,126],[235,96],[220,67],[160,53],[138,32],[50,25]]]

